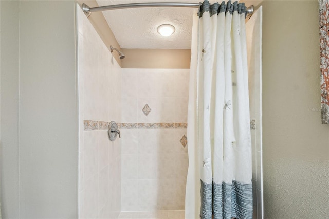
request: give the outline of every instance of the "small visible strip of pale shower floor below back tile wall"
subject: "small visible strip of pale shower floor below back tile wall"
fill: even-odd
[[[122,211],[119,219],[184,219],[184,210],[175,211]]]

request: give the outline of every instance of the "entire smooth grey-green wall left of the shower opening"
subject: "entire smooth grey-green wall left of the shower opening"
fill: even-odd
[[[2,216],[75,218],[75,4],[0,5]]]

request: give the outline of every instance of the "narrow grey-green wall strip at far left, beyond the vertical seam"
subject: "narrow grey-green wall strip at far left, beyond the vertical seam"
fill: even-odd
[[[20,212],[19,5],[19,1],[0,1],[0,194],[3,218],[18,218]]]

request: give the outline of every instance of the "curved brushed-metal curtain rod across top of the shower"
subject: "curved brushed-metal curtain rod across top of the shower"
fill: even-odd
[[[129,3],[129,4],[119,4],[119,5],[107,5],[90,8],[86,4],[82,4],[82,10],[87,17],[92,14],[92,12],[96,11],[107,11],[107,10],[115,10],[115,9],[125,9],[125,8],[147,8],[147,7],[188,7],[195,8],[200,7],[202,3],[182,3],[182,2],[145,2],[145,3]],[[247,8],[247,16],[248,20],[253,13],[253,5]]]

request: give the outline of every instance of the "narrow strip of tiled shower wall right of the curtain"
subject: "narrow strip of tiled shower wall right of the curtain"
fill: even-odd
[[[246,23],[250,133],[252,142],[253,218],[263,218],[262,178],[262,7]]]

